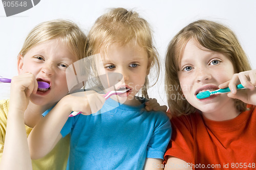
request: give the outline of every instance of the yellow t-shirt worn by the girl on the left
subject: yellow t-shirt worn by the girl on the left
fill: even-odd
[[[5,144],[8,107],[9,100],[0,101],[0,160],[2,159]],[[28,136],[32,128],[26,125],[25,128]],[[70,135],[67,135],[66,137],[60,139],[54,149],[44,158],[32,160],[33,170],[66,169],[69,157],[69,141]]]

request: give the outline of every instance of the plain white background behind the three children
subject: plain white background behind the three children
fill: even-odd
[[[100,15],[108,8],[117,7],[134,9],[151,24],[161,68],[164,68],[164,56],[170,39],[188,23],[198,19],[219,21],[231,28],[250,58],[252,68],[256,68],[254,0],[41,0],[35,7],[10,17],[6,17],[3,4],[0,4],[0,76],[12,78],[17,75],[18,52],[29,31],[38,23],[56,18],[70,19],[87,34]],[[0,99],[9,98],[9,93],[10,85],[0,84]],[[158,84],[150,88],[148,93],[160,104],[167,104],[164,69]]]

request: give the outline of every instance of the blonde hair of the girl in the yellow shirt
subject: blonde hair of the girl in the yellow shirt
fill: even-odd
[[[19,54],[24,56],[34,46],[55,38],[68,45],[76,60],[84,57],[87,37],[74,22],[65,19],[39,23],[28,34]]]

